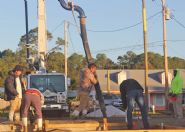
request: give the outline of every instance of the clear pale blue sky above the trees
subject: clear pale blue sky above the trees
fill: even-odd
[[[29,29],[37,27],[37,0],[27,0]],[[67,1],[67,0],[66,0]],[[87,33],[92,55],[105,53],[116,62],[119,55],[128,50],[143,52],[142,0],[73,0],[87,16]],[[166,0],[174,19],[167,21],[167,48],[169,56],[185,59],[185,0]],[[146,0],[148,50],[163,54],[161,0]],[[46,0],[47,28],[54,38],[48,47],[55,46],[57,37],[63,37],[63,21],[75,23],[70,11],[64,10],[58,0]],[[155,16],[153,16],[156,14]],[[1,0],[0,4],[0,51],[15,51],[20,37],[25,34],[24,0]],[[153,17],[151,17],[153,16]],[[78,14],[75,13],[77,22]],[[180,25],[178,22],[182,25]],[[69,25],[69,54],[84,54],[77,28]],[[77,23],[79,25],[79,23]],[[133,26],[133,27],[132,27]],[[127,27],[132,27],[125,29]],[[92,32],[123,29],[117,32]],[[172,41],[173,40],[173,41]],[[154,43],[153,43],[154,42]]]

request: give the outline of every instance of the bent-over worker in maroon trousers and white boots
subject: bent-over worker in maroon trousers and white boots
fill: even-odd
[[[42,93],[34,88],[27,89],[25,91],[23,102],[22,102],[22,122],[24,126],[24,131],[27,131],[27,116],[30,109],[30,106],[32,106],[35,110],[35,114],[37,116],[37,127],[39,131],[42,131],[42,110],[41,107],[44,104],[44,96]]]

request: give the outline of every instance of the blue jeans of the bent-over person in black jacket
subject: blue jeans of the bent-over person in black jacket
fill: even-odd
[[[127,104],[128,104],[128,110],[127,110],[127,120],[128,120],[128,129],[133,128],[133,122],[132,122],[132,111],[134,109],[135,102],[138,104],[141,116],[143,120],[143,126],[145,129],[149,129],[149,123],[148,123],[148,113],[146,110],[146,106],[144,103],[144,97],[142,90],[131,90],[127,93]]]

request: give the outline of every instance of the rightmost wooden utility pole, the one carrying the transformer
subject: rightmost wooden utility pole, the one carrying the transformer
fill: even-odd
[[[163,15],[163,52],[164,52],[164,68],[165,68],[165,94],[166,94],[166,105],[167,102],[167,94],[168,94],[168,56],[167,56],[167,47],[166,47],[166,0],[162,1],[162,15]]]

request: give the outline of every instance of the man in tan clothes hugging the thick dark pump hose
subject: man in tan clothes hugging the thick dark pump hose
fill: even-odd
[[[97,66],[94,63],[90,63],[87,68],[82,69],[80,72],[80,105],[74,110],[72,117],[78,117],[80,112],[82,112],[82,116],[85,116],[88,112],[89,94],[94,84],[97,83],[96,67]]]

